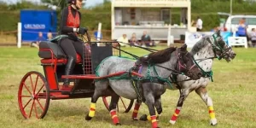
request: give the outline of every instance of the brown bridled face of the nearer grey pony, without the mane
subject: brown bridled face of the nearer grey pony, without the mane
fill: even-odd
[[[193,55],[187,50],[186,44],[177,49],[177,70],[191,79],[201,78],[201,70],[195,65]]]

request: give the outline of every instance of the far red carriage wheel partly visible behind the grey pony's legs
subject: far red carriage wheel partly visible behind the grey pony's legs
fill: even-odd
[[[102,100],[103,100],[103,103],[104,103],[105,107],[109,111],[109,104],[110,104],[110,101],[111,101],[111,96],[103,96]],[[131,110],[133,102],[134,102],[134,100],[125,99],[125,98],[122,98],[120,96],[119,103],[118,103],[118,106],[117,106],[118,111],[124,109],[124,112],[128,113]],[[119,108],[119,106],[122,106],[124,108]]]

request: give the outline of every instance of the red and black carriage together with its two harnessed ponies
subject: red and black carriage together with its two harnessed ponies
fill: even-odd
[[[132,119],[137,119],[139,107],[145,102],[152,127],[156,128],[158,125],[155,109],[158,114],[162,112],[160,96],[169,88],[180,90],[177,108],[170,123],[175,124],[185,97],[195,90],[209,109],[211,124],[217,124],[212,99],[207,96],[206,86],[211,77],[207,72],[211,73],[213,58],[230,61],[236,56],[236,53],[224,43],[219,32],[202,38],[190,53],[186,45],[183,45],[181,48],[171,47],[154,51],[146,57],[137,57],[136,62],[113,56],[120,56],[121,49],[117,42],[90,42],[90,36],[87,38],[87,47],[85,44],[82,46],[83,56],[77,55],[78,61],[73,75],[67,76],[63,75],[67,59],[58,44],[40,44],[39,56],[43,58],[41,65],[44,67],[45,78],[41,73],[29,72],[20,82],[18,101],[20,112],[26,119],[31,118],[32,113],[38,119],[44,118],[50,99],[90,97],[90,111],[85,116],[86,120],[90,120],[95,116],[97,99],[103,96],[103,102],[111,113],[113,124],[119,125],[116,108],[119,97],[123,96],[131,99],[128,107],[125,106],[125,112],[131,109],[133,100],[137,99]],[[176,80],[170,79],[172,74],[177,75]],[[73,79],[73,85],[70,85],[68,90],[61,89],[60,83],[63,79]],[[172,82],[176,86],[172,86]],[[111,96],[109,105],[106,96]],[[124,102],[123,104],[125,105]]]

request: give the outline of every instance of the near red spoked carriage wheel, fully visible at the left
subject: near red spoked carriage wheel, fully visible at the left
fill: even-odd
[[[18,91],[20,112],[25,119],[43,119],[49,108],[49,86],[42,73],[26,73]]]

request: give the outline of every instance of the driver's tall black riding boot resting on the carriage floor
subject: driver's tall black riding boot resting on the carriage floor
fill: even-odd
[[[73,73],[73,67],[75,65],[75,59],[73,56],[68,56],[67,65],[65,68],[65,75],[71,75]],[[64,79],[63,85],[68,86],[69,85],[69,79]]]

